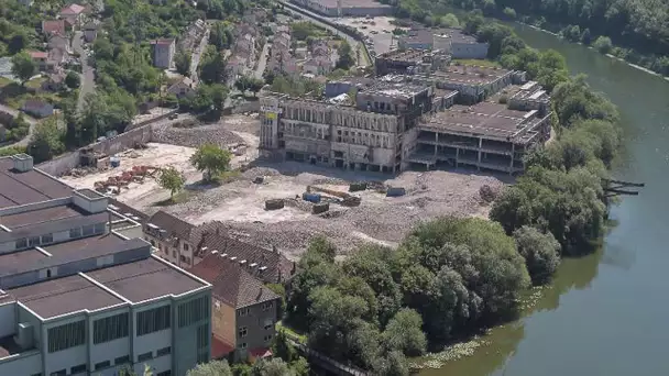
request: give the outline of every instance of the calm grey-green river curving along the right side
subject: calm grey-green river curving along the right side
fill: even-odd
[[[482,338],[472,356],[420,376],[669,375],[669,82],[516,25],[530,46],[553,48],[572,74],[618,106],[625,131],[618,179],[644,181],[638,197],[611,210],[617,222],[602,248],[564,259],[524,317]]]

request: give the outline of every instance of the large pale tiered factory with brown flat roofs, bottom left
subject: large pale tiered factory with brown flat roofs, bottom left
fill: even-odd
[[[0,375],[185,375],[211,352],[211,286],[142,226],[20,154],[0,158]],[[119,209],[119,210],[117,210]]]

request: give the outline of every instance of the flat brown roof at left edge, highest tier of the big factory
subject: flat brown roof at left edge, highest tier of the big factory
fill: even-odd
[[[11,157],[0,158],[0,209],[72,196],[72,188],[36,170],[19,173]]]

